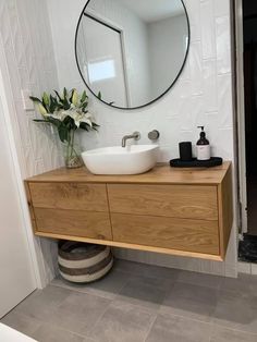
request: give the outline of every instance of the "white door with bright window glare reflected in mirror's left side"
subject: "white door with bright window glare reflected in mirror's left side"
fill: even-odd
[[[127,106],[121,33],[89,16],[83,19],[84,75],[95,94],[115,107]],[[82,35],[79,34],[79,39]]]

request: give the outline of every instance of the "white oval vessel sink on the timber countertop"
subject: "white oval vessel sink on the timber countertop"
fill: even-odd
[[[82,152],[87,169],[95,174],[137,174],[155,167],[158,145],[112,146]]]

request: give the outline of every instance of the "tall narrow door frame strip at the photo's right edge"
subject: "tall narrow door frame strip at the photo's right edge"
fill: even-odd
[[[244,100],[244,35],[243,0],[234,1],[235,33],[235,86],[236,86],[236,134],[238,159],[238,201],[240,234],[247,233],[247,183],[246,183],[246,142],[245,142],[245,100]]]

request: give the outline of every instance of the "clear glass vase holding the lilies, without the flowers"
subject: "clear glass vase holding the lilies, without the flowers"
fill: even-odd
[[[71,139],[64,144],[64,160],[68,169],[81,168],[83,160],[75,131],[71,131]]]

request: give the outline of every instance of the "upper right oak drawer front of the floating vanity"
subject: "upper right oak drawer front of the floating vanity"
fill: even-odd
[[[218,220],[217,187],[108,185],[111,212]]]

